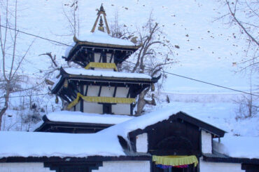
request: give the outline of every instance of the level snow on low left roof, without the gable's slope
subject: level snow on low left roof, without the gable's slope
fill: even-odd
[[[0,157],[87,157],[125,155],[114,135],[0,132]]]

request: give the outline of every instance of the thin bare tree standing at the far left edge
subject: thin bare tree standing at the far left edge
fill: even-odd
[[[22,55],[17,55],[18,48],[18,1],[15,1],[14,12],[10,13],[10,4],[6,0],[4,4],[1,1],[1,8],[4,9],[3,13],[0,15],[0,46],[1,46],[1,90],[3,93],[3,105],[0,107],[0,130],[1,130],[1,119],[3,114],[5,114],[8,109],[8,103],[10,100],[10,94],[22,91],[20,82],[22,81],[22,75],[19,74],[20,67],[22,62],[25,60],[25,57],[33,44],[33,41],[28,46],[25,53]],[[13,27],[12,30],[8,27]]]

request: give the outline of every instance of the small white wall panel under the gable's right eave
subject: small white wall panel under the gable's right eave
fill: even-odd
[[[211,133],[204,130],[202,132],[202,153],[211,154],[212,153],[212,138]]]

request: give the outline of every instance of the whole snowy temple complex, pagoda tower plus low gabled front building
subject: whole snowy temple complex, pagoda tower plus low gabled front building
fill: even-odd
[[[52,86],[68,110],[46,114],[33,133],[1,132],[0,171],[258,171],[259,159],[224,154],[225,131],[181,110],[133,117],[159,77],[117,72],[139,46],[108,33],[101,6],[92,34],[74,37],[64,57],[82,68],[62,68]]]

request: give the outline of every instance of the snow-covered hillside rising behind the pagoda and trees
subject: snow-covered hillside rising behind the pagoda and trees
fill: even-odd
[[[239,34],[237,27],[223,25],[221,20],[214,21],[227,10],[218,4],[218,1],[79,1],[81,34],[90,32],[96,18],[95,9],[99,8],[102,3],[109,22],[112,22],[115,14],[118,13],[118,22],[126,25],[130,30],[141,27],[151,12],[153,13],[153,18],[167,34],[171,44],[179,46],[179,48],[174,48],[174,58],[179,60],[179,63],[172,65],[168,72],[242,91],[249,90],[249,77],[240,73],[235,74],[237,67],[233,65],[233,62],[239,62],[243,58],[246,39]],[[72,44],[73,35],[64,15],[64,11],[68,7],[64,4],[66,4],[64,0],[18,1],[18,8],[20,8],[18,28],[47,39]],[[233,37],[234,35],[236,37]],[[34,81],[41,81],[42,73],[40,71],[48,70],[51,63],[47,56],[38,55],[52,52],[57,55],[57,61],[60,64],[66,65],[62,59],[66,46],[44,39],[35,39],[22,33],[19,34],[19,37],[20,52],[24,51],[34,40],[22,68],[24,74],[35,77]],[[253,77],[253,85],[256,85],[256,77]],[[45,87],[38,93],[47,93],[47,86]],[[195,117],[215,124],[235,135],[259,136],[258,117],[242,121],[235,119],[237,105],[232,103],[232,99],[241,96],[240,94],[169,74],[163,92],[161,100],[158,101],[158,107],[172,106],[172,108],[195,115]],[[170,103],[166,102],[166,95],[169,95],[172,100]],[[55,102],[54,96],[44,96],[42,98],[41,95],[38,95],[34,99],[50,100],[46,101],[49,104],[48,108],[45,108],[44,105],[45,111],[59,110],[60,104],[52,106]],[[12,101],[10,107],[18,105],[19,100],[12,99]],[[147,107],[146,109],[150,111],[158,107]],[[6,123],[11,126],[10,130],[15,130],[13,121],[16,114],[18,115],[18,111],[9,110],[7,113],[13,114],[13,117],[6,117]]]

